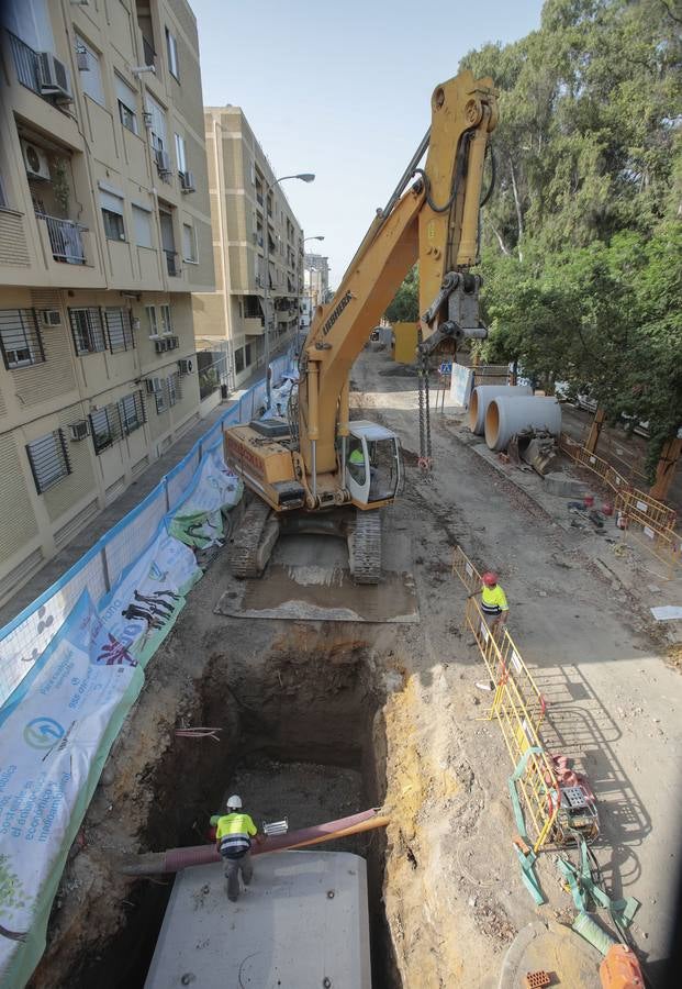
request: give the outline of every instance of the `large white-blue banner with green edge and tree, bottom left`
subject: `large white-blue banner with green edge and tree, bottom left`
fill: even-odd
[[[144,676],[83,591],[0,710],[0,984],[44,947],[69,848]]]

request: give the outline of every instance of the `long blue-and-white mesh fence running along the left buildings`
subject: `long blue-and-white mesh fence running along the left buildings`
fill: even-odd
[[[272,380],[292,370],[292,354],[271,362]],[[115,586],[138,557],[161,519],[179,505],[192,484],[203,451],[226,425],[256,418],[265,401],[265,381],[247,391],[208,430],[147,497],[113,525],[38,598],[0,629],[0,707],[31,671],[87,588],[93,602]]]

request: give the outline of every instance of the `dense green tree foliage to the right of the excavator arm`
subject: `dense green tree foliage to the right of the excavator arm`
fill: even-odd
[[[500,90],[483,211],[485,356],[682,424],[682,42],[663,0],[548,0],[463,66]]]

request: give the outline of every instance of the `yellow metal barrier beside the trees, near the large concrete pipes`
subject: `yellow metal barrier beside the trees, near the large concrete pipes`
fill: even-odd
[[[682,563],[682,537],[674,527],[678,520],[675,510],[633,487],[615,467],[563,433],[559,436],[559,448],[577,464],[601,477],[611,488],[616,496],[615,509],[620,512],[623,526],[640,546],[668,567],[672,577]]]

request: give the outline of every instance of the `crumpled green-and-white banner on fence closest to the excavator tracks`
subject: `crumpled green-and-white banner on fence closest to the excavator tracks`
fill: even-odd
[[[221,436],[204,453],[194,486],[172,513],[168,531],[197,549],[220,545],[225,532],[223,511],[234,508],[243,491],[242,479],[225,465]]]

